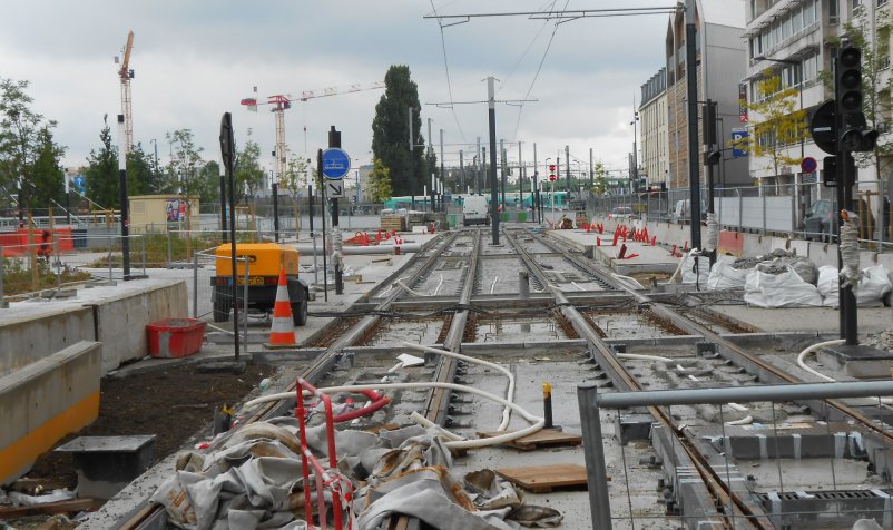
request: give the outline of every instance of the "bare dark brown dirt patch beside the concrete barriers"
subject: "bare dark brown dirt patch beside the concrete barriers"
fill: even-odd
[[[101,383],[99,419],[58,445],[77,436],[155,434],[155,458],[179,450],[203,428],[210,435],[214,411],[234,405],[275,373],[265,365],[247,365],[245,372],[204,373],[197,364],[171,364],[163,370]],[[70,454],[42,455],[28,477],[77,485]]]

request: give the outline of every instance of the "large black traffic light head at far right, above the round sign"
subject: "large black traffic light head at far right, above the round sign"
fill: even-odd
[[[837,51],[834,96],[841,124],[837,134],[841,150],[873,150],[877,131],[867,128],[862,112],[862,50],[855,46],[845,46]]]

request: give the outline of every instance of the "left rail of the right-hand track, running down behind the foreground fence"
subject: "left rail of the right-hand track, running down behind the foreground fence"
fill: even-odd
[[[506,234],[506,241],[509,241],[518,249],[521,259],[531,267],[533,274],[542,274],[536,271],[539,268],[539,265],[537,265],[533,257],[508,233]],[[592,345],[590,353],[593,360],[608,377],[610,377],[615,386],[628,392],[642,390],[638,381],[636,381],[636,377],[618,361],[614,350],[596,333],[567,296],[555,286],[551,286],[551,291],[556,300],[556,305],[559,306],[565,317],[570,321],[577,333]],[[719,513],[715,511],[714,513],[704,513],[704,517],[716,518],[716,522],[725,520],[726,523],[730,522],[728,518],[733,520],[746,518],[748,522],[753,523],[756,528],[775,528],[768,517],[766,517],[757,506],[748,502],[746,499],[739,498],[739,495],[730,490],[726,481],[713,469],[710,463],[704,458],[700,451],[693,445],[690,440],[674,426],[671,419],[663,410],[656,406],[648,406],[646,409],[658,423],[664,425],[667,432],[673,432],[678,439],[679,444],[675,445],[675,448],[679,449],[676,451],[677,467],[691,467],[697,470],[700,475],[701,482],[706,489],[703,494],[709,495],[709,500],[712,501],[703,506],[715,507],[719,504],[725,508],[734,503],[735,509],[740,511],[740,513]]]

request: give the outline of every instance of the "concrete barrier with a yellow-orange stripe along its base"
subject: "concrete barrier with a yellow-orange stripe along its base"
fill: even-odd
[[[102,345],[81,341],[0,377],[0,483],[99,415]]]

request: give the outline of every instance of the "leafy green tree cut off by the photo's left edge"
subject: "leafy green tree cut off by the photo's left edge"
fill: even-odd
[[[52,144],[50,130],[56,121],[45,121],[31,109],[33,99],[27,89],[28,81],[0,78],[0,186],[20,188],[19,202],[30,208],[46,204],[57,192],[52,187],[53,173],[58,177],[58,159],[63,149]],[[36,170],[40,174],[36,175]],[[61,178],[58,180],[65,185]],[[51,189],[38,189],[38,185],[50,185]]]

